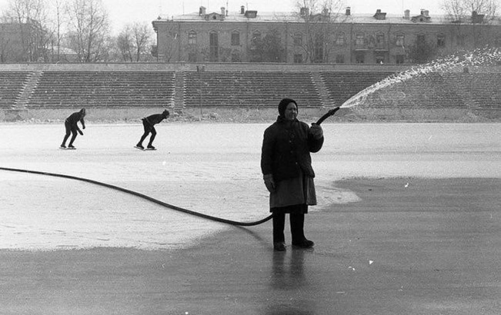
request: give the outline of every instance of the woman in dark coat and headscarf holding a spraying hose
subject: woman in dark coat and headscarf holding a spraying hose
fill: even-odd
[[[261,153],[261,170],[270,191],[273,213],[273,248],[285,250],[285,214],[289,213],[292,245],[313,247],[304,234],[305,213],[317,204],[310,152],[318,152],[324,144],[320,125],[312,127],[297,119],[298,105],[292,99],[279,104],[277,121],[265,130]]]

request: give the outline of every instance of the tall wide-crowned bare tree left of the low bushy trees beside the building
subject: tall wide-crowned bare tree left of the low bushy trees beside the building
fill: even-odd
[[[104,61],[110,45],[108,14],[101,0],[72,0],[68,42],[80,62]]]

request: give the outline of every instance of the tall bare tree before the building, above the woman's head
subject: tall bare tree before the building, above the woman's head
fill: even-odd
[[[298,18],[304,22],[305,38],[299,46],[305,53],[305,61],[328,62],[329,53],[335,47],[336,33],[343,22],[342,0],[296,0],[295,7]]]

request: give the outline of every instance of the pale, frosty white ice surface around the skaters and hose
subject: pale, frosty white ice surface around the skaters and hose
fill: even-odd
[[[88,124],[77,150],[61,125],[0,125],[0,166],[85,177],[238,221],[269,215],[260,171],[268,124],[160,124],[157,151],[133,148],[140,125]],[[356,201],[351,177],[501,177],[501,124],[329,124],[313,155],[318,211]],[[226,227],[108,188],[0,170],[0,249],[179,248]]]

